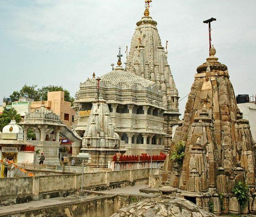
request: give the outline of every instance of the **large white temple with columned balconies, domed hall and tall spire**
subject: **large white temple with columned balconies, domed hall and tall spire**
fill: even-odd
[[[95,74],[80,83],[73,107],[77,111],[73,128],[84,137],[92,104],[102,97],[127,154],[167,150],[180,115],[168,52],[161,45],[156,21],[149,16],[150,2],[145,1],[144,17],[137,22],[125,67],[119,50],[117,67],[100,77],[99,89]]]

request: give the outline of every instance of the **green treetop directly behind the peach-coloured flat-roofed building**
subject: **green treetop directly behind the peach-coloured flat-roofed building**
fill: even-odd
[[[70,92],[66,89],[64,89],[62,86],[54,86],[54,85],[48,85],[46,87],[42,87],[41,89],[38,89],[38,92],[40,94],[40,100],[46,101],[47,100],[47,94],[48,92],[52,91],[64,91],[64,100],[73,103],[74,97],[70,96]]]

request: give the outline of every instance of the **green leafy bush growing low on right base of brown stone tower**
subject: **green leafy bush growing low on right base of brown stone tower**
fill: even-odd
[[[242,208],[247,206],[250,197],[247,183],[239,181],[236,183],[236,186],[233,188],[232,192],[237,197],[238,202]]]

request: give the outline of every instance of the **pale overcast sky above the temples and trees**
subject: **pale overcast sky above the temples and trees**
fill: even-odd
[[[212,43],[227,65],[235,94],[256,94],[256,0],[153,0],[168,63],[182,98]],[[111,70],[118,47],[130,46],[144,0],[0,0],[0,105],[25,83],[62,85],[72,95],[93,72]],[[124,59],[123,59],[124,62]],[[186,98],[180,102],[184,113]]]

